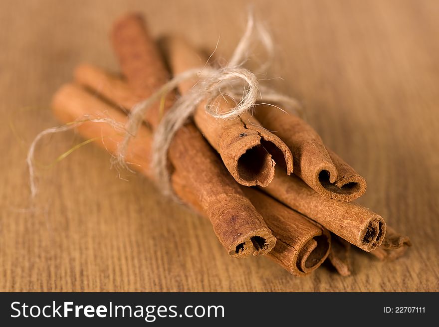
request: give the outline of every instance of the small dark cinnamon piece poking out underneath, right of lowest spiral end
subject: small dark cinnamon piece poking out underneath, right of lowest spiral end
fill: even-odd
[[[351,243],[331,233],[331,251],[329,262],[342,276],[350,276],[352,271]]]

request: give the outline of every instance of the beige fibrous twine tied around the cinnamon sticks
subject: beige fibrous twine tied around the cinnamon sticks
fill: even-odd
[[[257,32],[256,36],[267,51],[269,58],[265,64],[259,67],[258,71],[265,69],[273,57],[273,42],[268,31],[260,23],[255,24],[253,16],[249,14],[245,32],[226,66],[218,69],[205,66],[203,68],[187,70],[163,85],[150,98],[133,107],[127,123],[125,139],[116,155],[117,163],[125,165],[125,153],[128,144],[131,138],[136,136],[145,113],[151,105],[159,101],[170,90],[177,88],[182,81],[194,77],[200,79],[199,83],[192,88],[191,92],[180,97],[174,103],[154,133],[151,169],[157,178],[162,192],[166,195],[174,196],[167,166],[169,146],[175,133],[187,122],[188,118],[202,101],[207,100],[205,106],[207,114],[217,119],[231,120],[251,110],[257,100],[262,98],[260,92],[263,90],[264,101],[282,105],[282,107],[289,108],[300,114],[300,106],[295,99],[279,94],[267,87],[260,87],[256,74],[242,67],[248,57],[247,52],[250,50],[255,32]],[[242,90],[242,92],[238,93],[238,90]],[[220,112],[218,105],[214,105],[214,100],[219,95],[232,97],[236,101],[236,106],[229,111]],[[276,105],[273,106],[284,111]]]

